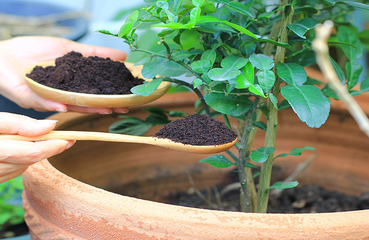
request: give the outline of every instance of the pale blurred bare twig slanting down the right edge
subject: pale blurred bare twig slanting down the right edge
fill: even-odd
[[[323,25],[315,27],[316,37],[312,42],[312,47],[316,52],[316,62],[321,72],[328,80],[331,89],[337,93],[342,102],[346,105],[359,128],[369,137],[368,117],[348,90],[342,85],[329,59],[327,41],[331,35],[333,26],[334,23],[332,21],[326,21]]]

